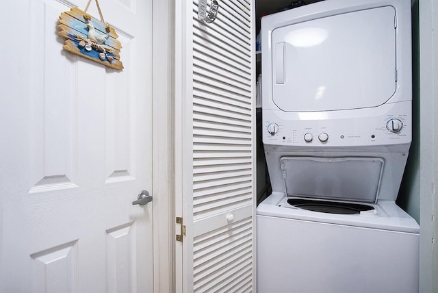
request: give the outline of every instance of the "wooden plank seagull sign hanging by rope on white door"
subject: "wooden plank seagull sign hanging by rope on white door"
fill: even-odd
[[[99,1],[96,1],[101,21],[87,14],[88,1],[85,10],[73,7],[60,15],[58,34],[66,38],[64,50],[81,55],[89,60],[99,62],[110,68],[123,69],[120,61],[122,44],[117,40],[116,31],[103,20]]]

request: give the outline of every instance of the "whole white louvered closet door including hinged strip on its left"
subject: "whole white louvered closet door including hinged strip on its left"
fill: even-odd
[[[254,1],[219,0],[208,24],[187,2],[176,27],[177,291],[255,292]]]

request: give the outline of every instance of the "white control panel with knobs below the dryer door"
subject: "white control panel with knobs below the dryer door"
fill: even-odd
[[[411,101],[346,111],[263,111],[263,143],[370,146],[411,142]]]

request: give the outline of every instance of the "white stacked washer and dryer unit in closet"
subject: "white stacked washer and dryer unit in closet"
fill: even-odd
[[[411,3],[326,0],[261,20],[258,292],[417,292],[395,203],[411,145]]]

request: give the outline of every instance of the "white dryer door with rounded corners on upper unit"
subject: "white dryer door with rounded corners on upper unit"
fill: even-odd
[[[395,15],[385,6],[274,29],[274,103],[285,112],[385,103],[396,91]]]

